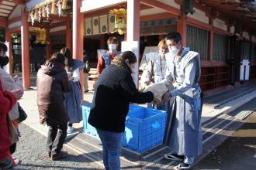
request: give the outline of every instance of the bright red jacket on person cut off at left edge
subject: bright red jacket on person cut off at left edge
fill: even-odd
[[[16,97],[8,91],[2,91],[0,81],[0,161],[9,156],[9,138],[8,112],[16,104]]]

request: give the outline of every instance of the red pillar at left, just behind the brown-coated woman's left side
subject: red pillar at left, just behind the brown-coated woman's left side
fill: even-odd
[[[22,83],[24,89],[30,87],[29,72],[29,22],[27,12],[22,9],[22,26],[21,26],[21,43],[22,43]]]

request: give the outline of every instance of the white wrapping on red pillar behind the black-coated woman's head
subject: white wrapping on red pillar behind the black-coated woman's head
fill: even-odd
[[[135,69],[133,70],[134,73],[132,74],[133,81],[137,88],[138,88],[138,84],[139,84],[139,55],[140,55],[139,48],[140,48],[140,44],[138,41],[130,41],[130,42],[123,41],[122,42],[122,49],[121,49],[122,52],[132,51],[137,58],[137,63],[136,63]]]

